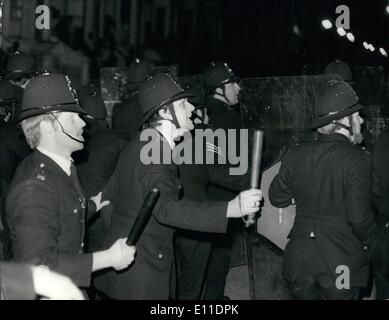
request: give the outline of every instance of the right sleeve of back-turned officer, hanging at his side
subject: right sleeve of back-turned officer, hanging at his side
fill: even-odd
[[[354,154],[349,161],[346,201],[347,222],[353,234],[369,245],[375,233],[371,193],[372,165],[368,155]]]

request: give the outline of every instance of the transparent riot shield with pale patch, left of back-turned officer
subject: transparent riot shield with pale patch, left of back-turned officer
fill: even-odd
[[[255,225],[246,232],[247,263],[254,299],[291,299],[281,277],[283,250],[293,225],[295,208],[279,210],[270,204],[268,189],[280,159],[296,143],[311,140],[314,97],[328,76],[242,79],[241,116],[249,129],[249,159],[254,129],[264,132],[261,190],[264,203]]]

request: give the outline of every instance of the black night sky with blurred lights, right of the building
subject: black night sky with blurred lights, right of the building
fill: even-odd
[[[340,4],[350,8],[354,43],[341,38],[335,26],[324,30],[321,25],[322,18],[335,22]],[[222,41],[213,40],[203,24],[197,39],[187,43],[196,45],[185,46],[186,59],[193,69],[206,61],[227,60],[244,76],[298,75],[305,64],[325,65],[335,58],[387,70],[389,59],[378,51],[383,46],[389,52],[386,5],[387,0],[223,0],[215,13],[222,20]],[[294,25],[300,34],[293,32]],[[186,40],[181,36],[181,42]],[[367,51],[363,41],[376,51]]]

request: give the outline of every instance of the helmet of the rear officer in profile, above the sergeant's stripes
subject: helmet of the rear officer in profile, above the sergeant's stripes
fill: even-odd
[[[211,63],[204,71],[204,89],[211,92],[223,84],[238,82],[239,77],[234,74],[227,63]]]

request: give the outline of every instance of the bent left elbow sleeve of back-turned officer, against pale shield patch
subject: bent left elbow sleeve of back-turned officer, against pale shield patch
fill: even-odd
[[[269,200],[277,208],[286,208],[292,204],[292,190],[290,188],[290,173],[288,158],[281,162],[279,173],[274,177],[269,187]]]

